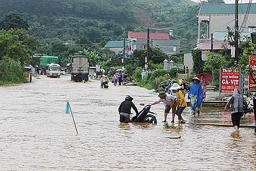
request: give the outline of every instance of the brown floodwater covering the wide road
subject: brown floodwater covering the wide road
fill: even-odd
[[[199,116],[184,110],[182,130],[163,127],[164,104],[151,108],[157,125],[120,124],[118,106],[125,95],[138,110],[158,99],[136,86],[99,81],[70,81],[70,76],[40,76],[20,86],[0,87],[0,170],[255,170],[254,128],[191,123],[228,123],[224,109],[204,109]],[[65,113],[70,101],[71,114]],[[168,115],[167,120],[172,118]],[[177,126],[177,119],[175,124]],[[243,124],[254,125],[251,115]],[[180,135],[180,139],[169,139]]]

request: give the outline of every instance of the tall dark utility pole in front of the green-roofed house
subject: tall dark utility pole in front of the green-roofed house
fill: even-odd
[[[235,5],[235,23],[234,23],[234,66],[238,65],[238,0]]]

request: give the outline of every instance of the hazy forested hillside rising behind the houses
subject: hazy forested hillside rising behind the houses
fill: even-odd
[[[181,51],[194,48],[199,5],[189,0],[0,0],[0,15],[22,13],[29,34],[46,42],[58,40],[103,47],[109,40],[127,37],[127,31],[174,30]]]

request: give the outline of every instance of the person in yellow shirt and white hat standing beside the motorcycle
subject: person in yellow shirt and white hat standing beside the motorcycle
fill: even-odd
[[[185,97],[183,96],[183,93],[181,92],[181,86],[179,86],[178,83],[174,83],[170,89],[174,90],[177,93],[176,100],[178,102],[177,110],[175,114],[178,116],[178,127],[181,127],[181,123],[185,123],[184,119],[182,118],[181,114],[183,110],[187,107],[187,102],[185,100]]]

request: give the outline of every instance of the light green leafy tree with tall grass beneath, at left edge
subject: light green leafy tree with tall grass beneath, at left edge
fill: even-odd
[[[24,66],[31,64],[37,40],[24,29],[0,31],[0,83],[26,82]]]

